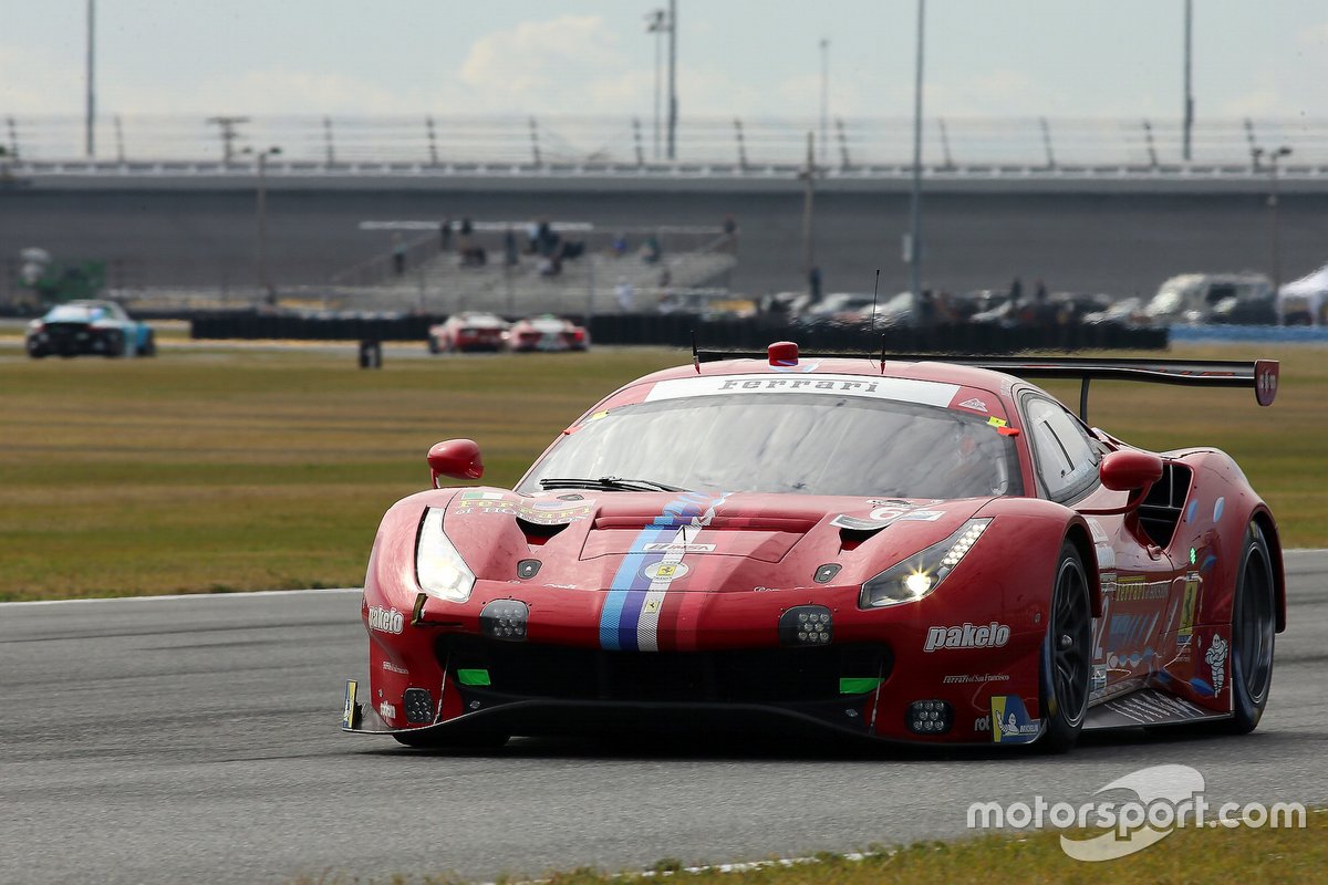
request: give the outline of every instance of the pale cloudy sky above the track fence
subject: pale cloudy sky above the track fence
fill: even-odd
[[[648,118],[664,0],[98,0],[106,114]],[[1328,3],[1195,0],[1198,115],[1328,117]],[[85,0],[0,0],[0,115],[81,114]],[[679,0],[683,117],[911,113],[914,0]],[[1179,117],[1183,0],[931,0],[927,113]]]

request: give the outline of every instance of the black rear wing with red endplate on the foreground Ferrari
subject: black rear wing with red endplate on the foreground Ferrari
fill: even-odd
[[[774,346],[774,345],[772,345]],[[795,354],[797,352],[794,352]],[[1093,379],[1147,381],[1193,387],[1250,387],[1255,402],[1271,406],[1278,395],[1280,364],[1276,360],[1100,360],[1097,357],[950,357],[923,353],[807,353],[809,358],[872,360],[880,362],[948,362],[991,369],[1020,378],[1069,378],[1080,381],[1080,418],[1088,422],[1088,389]],[[692,349],[697,366],[717,360],[766,360],[757,350]],[[797,360],[797,356],[793,357]]]

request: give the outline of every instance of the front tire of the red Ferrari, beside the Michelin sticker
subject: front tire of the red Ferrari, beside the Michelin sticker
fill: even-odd
[[[1073,544],[1061,544],[1056,584],[1042,641],[1042,735],[1033,744],[1048,754],[1068,751],[1078,740],[1088,713],[1093,671],[1093,609],[1088,575]]]

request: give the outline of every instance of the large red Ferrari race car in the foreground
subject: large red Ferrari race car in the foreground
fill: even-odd
[[[515,490],[438,488],[483,466],[433,447],[434,490],[373,544],[344,730],[1064,751],[1085,728],[1259,722],[1286,626],[1268,507],[1211,446],[1133,448],[1025,378],[1081,379],[1081,410],[1094,378],[1270,405],[1276,362],[695,357],[592,406]]]

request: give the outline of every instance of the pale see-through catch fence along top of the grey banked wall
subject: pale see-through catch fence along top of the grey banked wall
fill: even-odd
[[[677,162],[655,154],[636,117],[150,117],[98,119],[97,157],[84,153],[80,117],[8,115],[0,146],[12,162],[46,170],[122,170],[130,175],[218,174],[252,165],[254,150],[282,149],[275,174],[457,171],[475,166],[560,174],[567,169],[802,169],[813,118],[683,118]],[[1328,119],[1208,119],[1195,123],[1182,159],[1178,121],[1137,118],[928,118],[923,155],[936,170],[1158,169],[1232,166],[1258,171],[1254,149],[1292,149],[1297,165],[1328,166]],[[251,151],[246,154],[246,151]],[[817,147],[825,170],[880,170],[912,157],[912,122],[838,118]],[[93,161],[94,166],[86,166]]]

